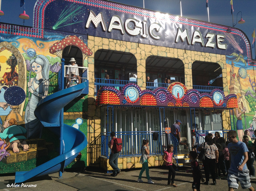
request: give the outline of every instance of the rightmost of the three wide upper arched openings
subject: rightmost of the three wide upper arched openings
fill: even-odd
[[[192,64],[193,88],[201,93],[211,92],[213,89],[223,90],[221,66],[214,62],[195,61]]]

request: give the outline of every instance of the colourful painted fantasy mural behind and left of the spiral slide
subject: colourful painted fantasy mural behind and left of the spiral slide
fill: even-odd
[[[26,29],[21,28],[21,31],[25,32]],[[83,45],[83,47],[79,45],[79,48],[84,48],[86,44],[80,39],[81,37],[75,35],[53,33],[45,33],[45,35],[46,38],[38,39],[31,35],[25,37],[26,35],[1,34],[0,173],[33,169],[58,153],[58,139],[47,129],[43,129],[34,111],[40,100],[58,89],[57,79],[61,69],[63,49],[56,51],[56,43],[77,39]],[[85,64],[86,62],[84,61]],[[86,104],[83,103],[85,99],[77,102],[69,105],[66,110],[75,107],[73,110],[82,112],[82,105]],[[69,117],[66,123],[87,131],[87,125],[80,116]],[[43,156],[46,156],[45,159],[42,159]],[[81,151],[79,160],[81,157],[86,161],[86,150]],[[76,159],[76,162],[79,160]],[[69,167],[86,166],[85,162],[82,165],[76,162]]]

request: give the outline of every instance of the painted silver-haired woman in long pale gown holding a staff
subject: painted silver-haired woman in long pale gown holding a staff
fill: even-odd
[[[37,103],[48,95],[50,64],[44,55],[38,55],[31,60],[30,65],[36,76],[28,82],[31,97],[26,107],[25,125],[28,131],[27,138],[41,138],[43,125],[35,117],[34,111]]]

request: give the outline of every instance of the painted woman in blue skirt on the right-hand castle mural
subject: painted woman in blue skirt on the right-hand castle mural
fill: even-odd
[[[242,108],[239,106],[242,99],[242,95],[240,93],[237,93],[237,103],[238,107],[235,108],[235,115],[237,116],[237,135],[239,138],[239,141],[242,141],[242,136],[244,135],[243,131],[243,124],[242,124],[242,114],[246,112],[246,108]]]

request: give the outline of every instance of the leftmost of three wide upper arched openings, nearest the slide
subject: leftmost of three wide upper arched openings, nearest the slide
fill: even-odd
[[[106,75],[109,79],[106,79]],[[128,52],[97,50],[94,56],[94,76],[95,94],[101,86],[112,86],[121,91],[125,84],[137,84],[137,59]]]

